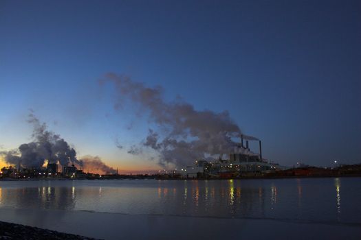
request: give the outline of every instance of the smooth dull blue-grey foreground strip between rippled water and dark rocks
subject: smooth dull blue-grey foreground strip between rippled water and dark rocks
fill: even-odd
[[[361,239],[361,224],[1,208],[0,221],[97,239]]]

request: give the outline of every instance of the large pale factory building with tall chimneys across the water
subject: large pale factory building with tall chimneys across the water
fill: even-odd
[[[239,176],[257,176],[262,173],[285,169],[278,164],[267,163],[262,158],[262,143],[259,141],[259,153],[256,154],[250,150],[249,141],[243,145],[243,136],[241,143],[234,147],[234,151],[228,154],[227,159],[223,159],[224,154],[220,154],[219,159],[208,163],[206,160],[196,160],[194,166],[187,166],[184,169],[175,171],[182,178],[232,178]]]

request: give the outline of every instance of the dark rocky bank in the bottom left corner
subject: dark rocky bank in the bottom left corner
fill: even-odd
[[[0,240],[26,239],[26,240],[93,240],[89,237],[67,234],[64,232],[56,232],[52,230],[35,228],[21,224],[11,224],[0,221]]]

